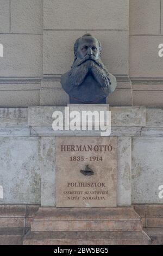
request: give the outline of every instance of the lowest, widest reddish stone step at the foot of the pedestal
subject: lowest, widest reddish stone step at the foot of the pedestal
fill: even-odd
[[[29,232],[23,245],[150,245],[143,231]]]

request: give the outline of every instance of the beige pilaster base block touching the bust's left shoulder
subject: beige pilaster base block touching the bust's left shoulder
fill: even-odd
[[[62,88],[43,88],[40,90],[41,106],[67,106],[68,95]]]

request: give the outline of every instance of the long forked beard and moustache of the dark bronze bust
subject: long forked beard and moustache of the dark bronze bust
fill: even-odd
[[[93,74],[88,69],[88,65],[91,65],[93,69]],[[96,59],[94,56],[85,56],[82,60],[74,60],[71,70],[70,70],[70,79],[73,87],[80,86],[84,81],[87,75],[93,75],[95,80],[98,82],[101,87],[108,87],[110,84],[109,74],[106,70],[101,59]]]

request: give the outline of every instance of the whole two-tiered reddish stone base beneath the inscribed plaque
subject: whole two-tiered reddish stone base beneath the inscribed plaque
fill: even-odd
[[[149,245],[133,208],[40,208],[24,245]]]

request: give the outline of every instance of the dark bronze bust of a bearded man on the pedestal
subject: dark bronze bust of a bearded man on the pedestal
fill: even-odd
[[[61,76],[70,103],[106,103],[106,97],[114,92],[116,78],[102,63],[101,50],[101,42],[91,34],[76,40],[71,70]]]

